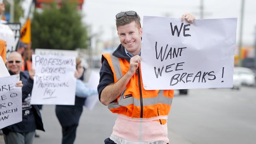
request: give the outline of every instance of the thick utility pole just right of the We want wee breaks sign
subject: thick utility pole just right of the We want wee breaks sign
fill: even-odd
[[[243,39],[243,13],[244,13],[245,0],[242,0],[241,4],[241,18],[240,18],[240,32],[239,32],[239,66],[242,66],[242,39]]]

